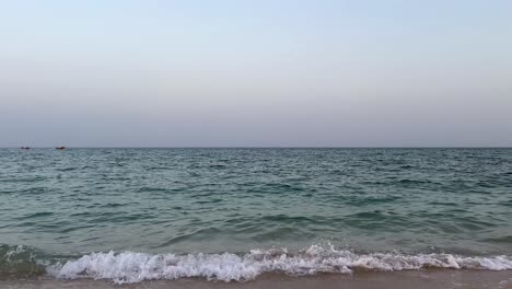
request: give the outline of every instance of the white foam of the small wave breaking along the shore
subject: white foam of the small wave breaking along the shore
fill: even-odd
[[[154,279],[202,277],[208,280],[248,280],[263,273],[289,275],[316,273],[352,274],[354,269],[414,270],[422,268],[512,269],[511,256],[467,257],[451,254],[403,255],[395,253],[354,254],[313,245],[291,254],[286,250],[254,250],[245,255],[92,253],[47,268],[57,278],[109,279],[117,284]]]

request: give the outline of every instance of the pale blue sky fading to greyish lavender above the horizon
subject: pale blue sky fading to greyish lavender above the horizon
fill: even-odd
[[[0,0],[0,147],[512,147],[512,1]]]

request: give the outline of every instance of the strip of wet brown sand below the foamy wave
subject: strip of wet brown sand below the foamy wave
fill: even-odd
[[[55,280],[47,277],[35,279],[3,279],[2,289],[512,289],[512,271],[486,270],[420,270],[395,273],[358,273],[352,276],[323,274],[310,277],[291,277],[267,274],[245,282],[207,281],[205,279],[178,279],[144,281],[131,285],[115,285],[105,280]]]

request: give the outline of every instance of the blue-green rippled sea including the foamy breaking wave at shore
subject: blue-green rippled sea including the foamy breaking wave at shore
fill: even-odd
[[[0,149],[0,276],[512,269],[512,149]]]

